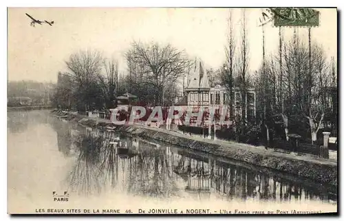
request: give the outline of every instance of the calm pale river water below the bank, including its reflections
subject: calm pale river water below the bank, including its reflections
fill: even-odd
[[[82,127],[47,110],[8,112],[9,213],[291,213],[336,207],[336,189],[300,178]]]

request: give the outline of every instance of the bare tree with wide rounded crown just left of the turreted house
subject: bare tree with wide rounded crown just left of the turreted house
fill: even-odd
[[[155,104],[164,105],[166,85],[174,82],[184,74],[189,61],[184,51],[173,48],[172,45],[133,42],[126,53],[127,61],[138,65],[144,76],[141,84],[150,85],[155,94]]]

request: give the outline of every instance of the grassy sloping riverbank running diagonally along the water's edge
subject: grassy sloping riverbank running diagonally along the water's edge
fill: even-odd
[[[250,165],[273,169],[293,176],[314,180],[315,182],[337,186],[336,160],[318,158],[308,154],[297,156],[274,151],[273,149],[264,149],[264,147],[255,147],[224,140],[208,140],[182,134],[178,131],[158,129],[155,127],[145,127],[142,125],[116,126],[109,120],[88,118],[75,113],[66,114],[54,110],[52,114],[87,127],[102,127],[104,129],[114,127],[116,131],[131,134],[132,136],[153,138],[154,140],[178,145],[186,149],[239,160]]]

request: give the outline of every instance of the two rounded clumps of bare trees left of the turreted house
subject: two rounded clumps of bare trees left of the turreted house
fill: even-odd
[[[149,105],[172,105],[193,61],[171,44],[133,42],[125,53],[127,74],[118,61],[97,50],[81,50],[65,61],[67,72],[58,73],[56,105],[80,111],[116,107],[116,96],[129,92]]]

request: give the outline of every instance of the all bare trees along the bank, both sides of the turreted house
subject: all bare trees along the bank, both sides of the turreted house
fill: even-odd
[[[334,58],[327,58],[323,45],[301,41],[295,28],[291,40],[283,39],[279,28],[278,50],[265,52],[264,26],[262,29],[263,61],[259,70],[251,72],[250,47],[246,12],[242,10],[239,37],[228,16],[226,59],[218,70],[206,70],[211,86],[217,84],[228,90],[230,116],[236,136],[259,128],[267,143],[287,134],[300,134],[313,142],[321,128],[336,134],[337,127],[337,70]],[[239,41],[237,41],[239,39]],[[172,105],[182,94],[178,84],[187,86],[186,74],[191,72],[194,60],[184,50],[173,45],[134,41],[125,52],[127,74],[118,71],[118,61],[107,59],[96,50],[72,54],[65,65],[68,72],[58,74],[54,101],[63,108],[78,111],[116,107],[116,96],[125,92],[137,95],[147,105]],[[256,96],[256,115],[246,118],[246,93],[253,87]],[[234,103],[233,88],[239,88],[239,104]],[[237,111],[239,105],[239,112]]]

